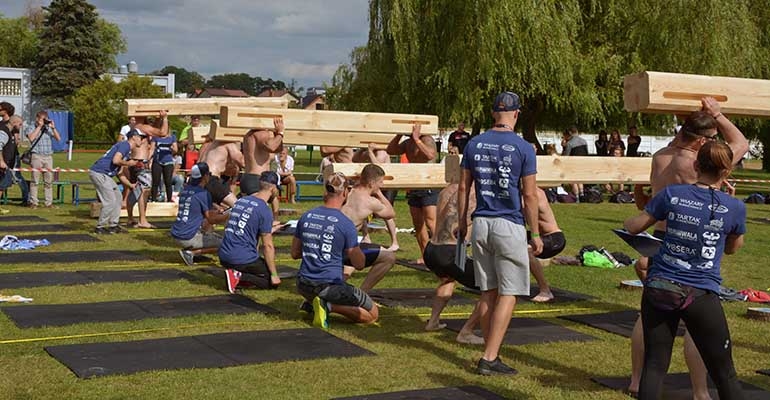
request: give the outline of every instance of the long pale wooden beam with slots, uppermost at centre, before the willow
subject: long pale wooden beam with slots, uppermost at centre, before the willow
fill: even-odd
[[[331,131],[352,133],[411,134],[414,124],[421,124],[424,135],[438,134],[435,115],[367,113],[258,107],[222,107],[220,120],[228,128],[273,129],[273,118],[283,118],[284,129],[294,131]]]

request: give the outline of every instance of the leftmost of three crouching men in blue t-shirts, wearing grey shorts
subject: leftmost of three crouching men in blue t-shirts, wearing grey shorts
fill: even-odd
[[[227,221],[228,215],[213,210],[211,194],[206,190],[211,172],[206,163],[190,169],[190,181],[179,193],[179,210],[171,226],[171,237],[182,247],[179,255],[185,264],[195,264],[194,257],[216,253],[222,237],[211,230],[211,225]]]

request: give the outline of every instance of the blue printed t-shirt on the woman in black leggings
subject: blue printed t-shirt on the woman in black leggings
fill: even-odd
[[[655,195],[645,211],[666,221],[663,244],[647,277],[718,293],[727,236],[746,233],[743,202],[718,190],[671,185]]]

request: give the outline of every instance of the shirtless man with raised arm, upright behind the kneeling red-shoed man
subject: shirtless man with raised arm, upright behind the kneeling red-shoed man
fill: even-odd
[[[241,193],[256,193],[259,191],[259,177],[270,170],[270,160],[273,153],[283,148],[283,118],[273,118],[273,132],[268,130],[251,130],[243,138],[243,175],[241,176]],[[278,214],[278,196],[271,204],[273,215]]]

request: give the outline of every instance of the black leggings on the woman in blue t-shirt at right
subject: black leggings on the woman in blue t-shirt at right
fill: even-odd
[[[644,325],[644,368],[639,385],[639,399],[659,399],[663,379],[671,362],[679,319],[687,325],[698,352],[706,364],[709,376],[723,400],[742,399],[732,356],[732,341],[719,297],[714,292],[696,297],[684,310],[662,311],[655,308],[646,295],[642,296]]]

